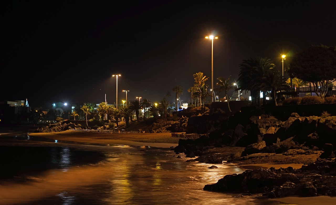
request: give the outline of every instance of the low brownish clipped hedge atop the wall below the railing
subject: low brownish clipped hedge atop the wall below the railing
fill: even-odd
[[[318,96],[305,96],[302,98],[285,99],[283,105],[303,105],[303,104],[321,104],[321,103],[336,103],[336,97],[326,97],[324,100]]]

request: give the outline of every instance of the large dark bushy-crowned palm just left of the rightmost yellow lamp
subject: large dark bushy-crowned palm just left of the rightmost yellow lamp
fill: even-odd
[[[274,69],[275,64],[268,58],[255,57],[243,60],[240,67],[238,81],[242,91],[250,91],[254,103],[260,104],[262,77],[266,72]],[[264,95],[264,99],[265,97],[266,95]],[[266,101],[264,100],[264,102]]]

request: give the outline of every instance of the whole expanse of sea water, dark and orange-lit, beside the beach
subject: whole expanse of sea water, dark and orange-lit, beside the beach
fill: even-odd
[[[234,165],[185,162],[149,146],[56,142],[0,135],[0,204],[280,204],[263,197],[204,191]]]

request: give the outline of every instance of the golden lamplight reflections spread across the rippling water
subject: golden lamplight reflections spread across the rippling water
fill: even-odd
[[[0,204],[278,204],[203,191],[205,184],[242,170],[224,164],[208,169],[210,164],[185,162],[188,158],[176,158],[170,150],[80,145],[47,150],[58,168],[21,183],[0,182]],[[83,161],[79,151],[93,150],[105,159],[92,164],[86,155],[85,165],[75,165]]]

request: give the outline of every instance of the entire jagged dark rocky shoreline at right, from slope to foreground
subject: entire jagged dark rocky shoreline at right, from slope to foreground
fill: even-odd
[[[292,113],[282,122],[270,115],[252,116],[249,120],[232,116],[209,136],[180,139],[173,150],[186,158],[195,158],[187,162],[303,164],[299,169],[271,167],[226,175],[217,183],[206,184],[207,191],[262,194],[271,198],[336,196],[335,135],[333,118],[300,117]]]

